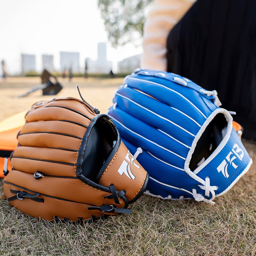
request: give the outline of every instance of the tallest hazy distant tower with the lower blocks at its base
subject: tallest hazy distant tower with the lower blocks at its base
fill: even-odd
[[[112,69],[112,61],[107,60],[107,44],[98,44],[98,59],[91,60],[90,58],[85,59],[88,73],[105,73],[108,74]]]

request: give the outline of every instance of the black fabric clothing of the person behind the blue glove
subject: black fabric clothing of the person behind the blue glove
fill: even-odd
[[[256,1],[196,1],[168,36],[167,71],[217,90],[256,140]]]

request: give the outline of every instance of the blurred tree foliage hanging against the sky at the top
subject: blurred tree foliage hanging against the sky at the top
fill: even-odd
[[[136,44],[143,36],[145,9],[153,0],[98,0],[101,17],[113,47]]]

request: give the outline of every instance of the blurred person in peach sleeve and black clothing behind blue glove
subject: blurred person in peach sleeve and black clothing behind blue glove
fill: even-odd
[[[156,0],[144,26],[141,68],[217,90],[256,140],[256,1]]]

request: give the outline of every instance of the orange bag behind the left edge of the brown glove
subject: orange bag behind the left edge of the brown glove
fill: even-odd
[[[11,116],[0,123],[0,178],[4,178],[4,157],[9,156],[18,145],[17,133],[25,124],[25,115],[27,111],[20,112]],[[10,161],[8,170],[11,170]]]

